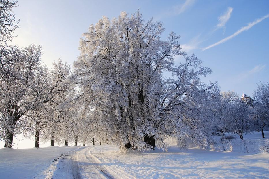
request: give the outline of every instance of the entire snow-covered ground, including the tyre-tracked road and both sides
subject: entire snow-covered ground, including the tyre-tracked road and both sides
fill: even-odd
[[[265,135],[268,138],[269,132]],[[261,138],[261,134],[245,137]],[[129,149],[127,154],[110,145],[4,148],[0,149],[0,178],[268,178],[269,154],[186,151],[175,142],[168,140],[168,152]]]

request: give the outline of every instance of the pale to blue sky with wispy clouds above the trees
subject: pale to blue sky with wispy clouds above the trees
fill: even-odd
[[[14,8],[20,27],[14,43],[43,47],[43,62],[51,66],[62,58],[72,64],[78,43],[90,24],[102,16],[118,17],[138,9],[145,20],[164,24],[163,38],[171,31],[181,36],[188,54],[194,53],[213,70],[202,80],[218,81],[222,91],[252,96],[256,83],[269,81],[269,1],[30,1]],[[179,63],[181,58],[176,58]]]

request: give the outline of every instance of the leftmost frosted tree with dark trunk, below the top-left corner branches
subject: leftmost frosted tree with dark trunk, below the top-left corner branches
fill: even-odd
[[[41,47],[30,45],[16,53],[1,53],[1,138],[11,147],[14,134],[20,132],[21,117],[50,102],[61,91],[64,71],[55,71],[49,79],[42,66]]]

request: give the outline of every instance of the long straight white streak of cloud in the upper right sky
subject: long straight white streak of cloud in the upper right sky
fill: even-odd
[[[247,26],[244,26],[244,27],[240,28],[234,34],[232,34],[232,35],[230,35],[230,36],[228,36],[228,37],[226,37],[226,38],[218,41],[217,43],[214,43],[212,45],[209,45],[208,47],[205,47],[204,49],[202,49],[202,51],[207,50],[207,49],[210,49],[212,47],[215,47],[215,46],[217,46],[217,45],[219,45],[221,43],[226,42],[227,40],[230,40],[230,39],[234,38],[235,36],[239,35],[240,33],[244,32],[244,31],[249,30],[251,27],[253,27],[254,25],[258,24],[259,22],[262,22],[262,20],[264,20],[264,19],[266,19],[268,17],[269,17],[269,14],[267,14],[266,16],[263,16],[262,18],[259,18],[259,19],[255,20],[255,21],[253,21],[251,23],[249,23]]]

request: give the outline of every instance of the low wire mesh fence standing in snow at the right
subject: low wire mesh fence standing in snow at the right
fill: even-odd
[[[269,139],[221,139],[210,148],[245,153],[269,153]]]

